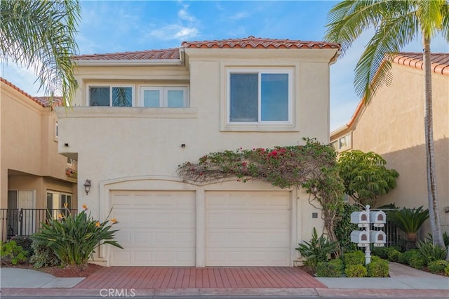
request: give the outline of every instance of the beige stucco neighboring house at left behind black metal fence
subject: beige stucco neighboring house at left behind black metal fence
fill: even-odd
[[[58,121],[48,98],[34,98],[1,77],[0,84],[0,233],[5,241],[36,230],[46,211],[34,209],[78,203],[76,161],[58,154]],[[21,209],[33,210],[19,217]]]

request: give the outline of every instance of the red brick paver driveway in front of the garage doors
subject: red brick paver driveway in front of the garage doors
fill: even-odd
[[[75,288],[326,288],[297,267],[105,267]]]

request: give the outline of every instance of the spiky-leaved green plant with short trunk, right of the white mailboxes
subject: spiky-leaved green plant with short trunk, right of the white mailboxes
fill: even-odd
[[[388,218],[396,227],[407,234],[406,249],[409,250],[416,247],[417,231],[429,218],[429,210],[423,210],[422,206],[419,208],[401,208],[401,210],[389,212]]]

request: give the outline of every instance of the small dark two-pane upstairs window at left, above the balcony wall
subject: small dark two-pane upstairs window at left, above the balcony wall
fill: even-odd
[[[133,89],[133,86],[89,86],[88,102],[90,106],[132,107]]]

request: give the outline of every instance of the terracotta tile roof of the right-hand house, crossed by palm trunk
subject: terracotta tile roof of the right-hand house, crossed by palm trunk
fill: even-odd
[[[436,74],[449,75],[449,53],[431,53],[432,72]],[[398,65],[406,65],[423,69],[422,53],[398,53],[394,58],[394,62]]]

